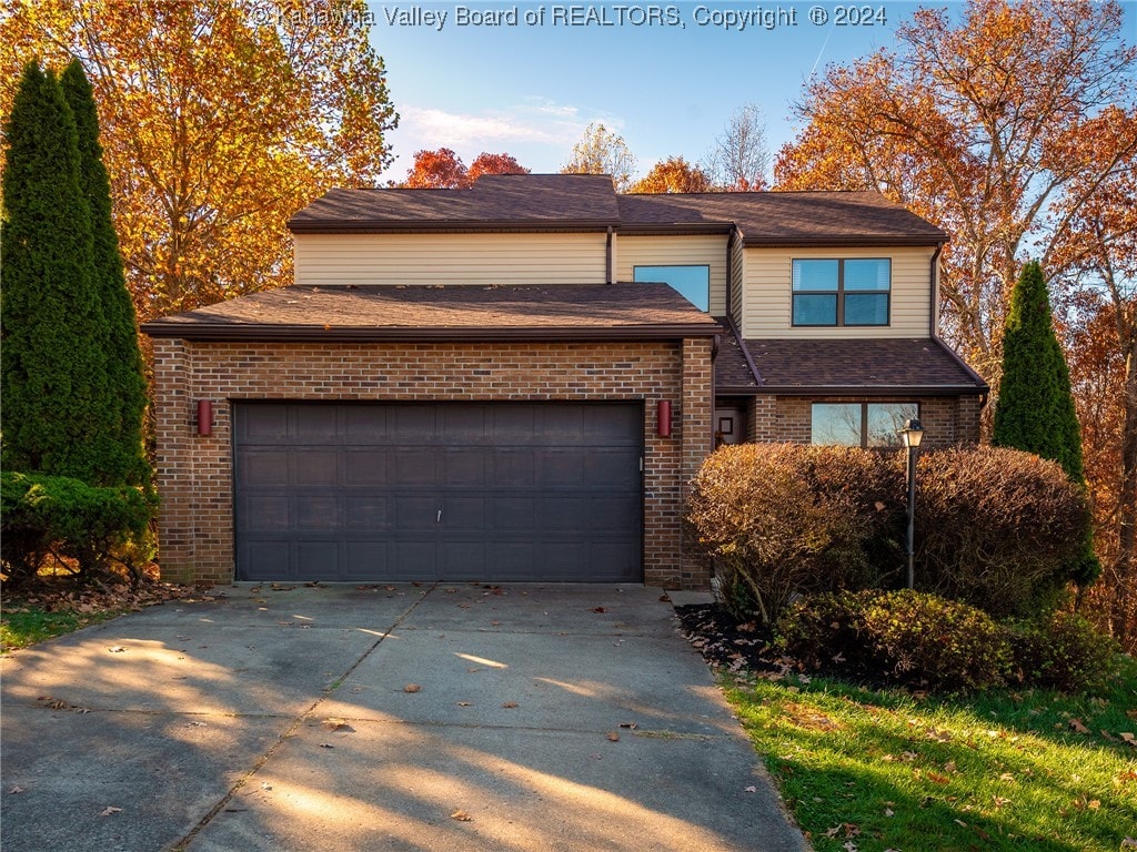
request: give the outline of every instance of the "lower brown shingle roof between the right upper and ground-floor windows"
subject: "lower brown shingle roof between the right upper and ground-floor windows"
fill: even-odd
[[[987,384],[936,337],[744,341],[764,393],[986,393]]]

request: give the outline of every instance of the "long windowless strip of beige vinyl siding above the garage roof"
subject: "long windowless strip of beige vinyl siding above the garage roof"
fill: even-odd
[[[294,234],[296,283],[604,284],[607,235]]]

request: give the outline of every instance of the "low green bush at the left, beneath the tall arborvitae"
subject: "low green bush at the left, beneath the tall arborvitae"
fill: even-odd
[[[152,491],[94,487],[78,479],[0,474],[0,563],[9,580],[34,577],[50,559],[80,575],[125,569],[134,579],[153,558]]]

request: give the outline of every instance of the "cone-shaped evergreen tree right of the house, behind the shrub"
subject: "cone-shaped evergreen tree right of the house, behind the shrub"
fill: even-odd
[[[1085,482],[1070,371],[1037,260],[1022,268],[1011,293],[991,443],[1053,459],[1071,479]]]

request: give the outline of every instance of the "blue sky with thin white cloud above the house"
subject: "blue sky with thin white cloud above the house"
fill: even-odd
[[[556,172],[590,122],[624,137],[642,175],[667,156],[703,158],[748,101],[762,109],[777,153],[795,135],[790,105],[811,74],[890,47],[897,24],[921,5],[955,15],[963,9],[960,2],[887,1],[372,0],[372,43],[387,62],[401,116],[389,136],[397,160],[384,179],[401,179],[415,151],[443,147],[467,165],[481,151],[508,152],[533,172]],[[872,14],[858,15],[863,8]],[[474,20],[514,9],[516,24]],[[1127,2],[1130,20],[1135,10]],[[745,12],[754,14],[742,28]],[[596,22],[601,15],[611,25]],[[647,23],[653,15],[670,23]],[[1130,30],[1137,33],[1137,25]]]

